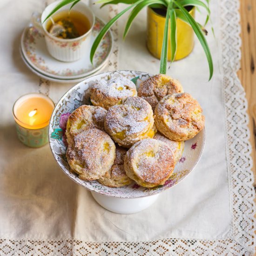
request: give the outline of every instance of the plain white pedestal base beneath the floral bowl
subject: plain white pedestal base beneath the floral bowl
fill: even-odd
[[[135,199],[126,199],[101,195],[93,191],[91,191],[91,193],[96,202],[98,202],[103,208],[120,214],[131,214],[147,209],[159,196],[159,194],[157,194]]]

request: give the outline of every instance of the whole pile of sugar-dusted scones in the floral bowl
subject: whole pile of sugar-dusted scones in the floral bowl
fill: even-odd
[[[89,87],[92,105],[67,120],[67,162],[86,181],[108,187],[132,182],[163,185],[180,160],[184,141],[204,127],[199,103],[163,74],[141,82],[116,75]]]

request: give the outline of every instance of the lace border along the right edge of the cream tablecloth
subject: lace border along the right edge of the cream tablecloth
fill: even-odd
[[[255,214],[254,177],[251,171],[253,162],[250,156],[252,149],[249,142],[247,101],[244,89],[236,75],[241,60],[239,1],[220,1],[220,8],[224,74],[222,92],[227,117],[227,159],[229,163],[229,190],[231,192],[231,237],[235,246],[243,245],[247,253],[252,254]],[[237,252],[239,255],[242,254],[240,251]]]

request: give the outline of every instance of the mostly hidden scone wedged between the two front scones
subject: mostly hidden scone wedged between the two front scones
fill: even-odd
[[[124,171],[123,163],[126,152],[127,150],[125,148],[116,146],[114,164],[112,165],[111,169],[98,180],[101,182],[101,184],[110,188],[118,188],[132,182]]]

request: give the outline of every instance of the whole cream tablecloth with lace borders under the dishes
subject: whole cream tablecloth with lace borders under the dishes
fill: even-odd
[[[31,13],[45,5],[38,0],[0,2],[0,255],[252,255],[251,146],[247,102],[236,77],[241,59],[238,0],[211,1],[213,79],[207,82],[208,66],[197,40],[193,53],[168,70],[204,109],[202,159],[188,178],[134,215],[101,208],[89,191],[61,172],[48,146],[26,148],[15,135],[11,111],[20,95],[39,91],[56,102],[74,85],[39,79],[20,58],[20,34]],[[118,12],[115,6],[93,9],[105,20]],[[158,73],[159,61],[145,47],[145,22],[144,11],[125,41],[124,19],[115,24],[105,70]],[[207,28],[210,32],[210,24]]]

